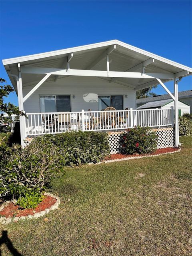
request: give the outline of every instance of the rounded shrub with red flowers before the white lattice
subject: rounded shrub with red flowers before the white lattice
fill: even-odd
[[[155,132],[149,127],[134,127],[122,134],[121,146],[126,154],[149,154],[157,147]]]

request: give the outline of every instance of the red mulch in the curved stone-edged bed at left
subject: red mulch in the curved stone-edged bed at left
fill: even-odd
[[[20,217],[20,216],[28,216],[29,214],[34,215],[36,212],[44,211],[47,208],[50,208],[52,205],[56,203],[56,198],[51,196],[45,196],[42,202],[38,204],[38,206],[34,209],[19,209],[18,205],[10,202],[7,204],[2,211],[0,211],[0,216],[4,216],[6,218],[9,217]]]

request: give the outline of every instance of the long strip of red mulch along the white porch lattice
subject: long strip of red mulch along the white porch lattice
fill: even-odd
[[[105,160],[115,160],[115,159],[122,159],[127,157],[133,157],[133,156],[151,156],[151,155],[158,155],[163,153],[170,153],[177,151],[178,148],[159,148],[152,154],[132,154],[132,155],[126,155],[126,154],[111,154],[110,156],[106,157]]]

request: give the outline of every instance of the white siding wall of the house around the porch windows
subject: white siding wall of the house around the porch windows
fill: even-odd
[[[25,96],[33,86],[23,88]],[[118,85],[113,82],[90,77],[67,77],[58,79],[56,82],[50,81],[42,84],[27,100],[24,102],[26,113],[40,112],[40,95],[70,95],[71,111],[80,111],[89,108],[98,110],[98,102],[94,94],[102,95],[123,95],[124,108],[136,108],[134,89]],[[75,98],[73,98],[75,95]],[[87,95],[87,96],[86,96]],[[127,98],[125,97],[127,95]],[[85,97],[85,100],[84,98]],[[92,102],[87,102],[92,100]]]

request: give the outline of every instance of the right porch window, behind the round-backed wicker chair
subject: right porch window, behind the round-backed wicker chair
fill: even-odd
[[[103,110],[107,107],[114,107],[116,110],[123,110],[123,96],[122,95],[99,96],[98,109]]]

